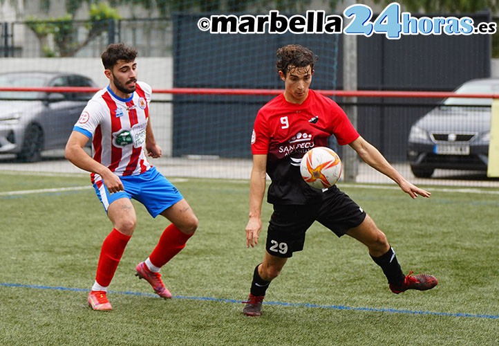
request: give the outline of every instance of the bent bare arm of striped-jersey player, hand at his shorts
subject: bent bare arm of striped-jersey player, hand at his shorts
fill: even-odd
[[[68,143],[66,143],[64,156],[76,167],[86,170],[87,172],[99,174],[109,192],[113,193],[122,191],[124,188],[120,178],[113,174],[108,167],[98,163],[86,154],[83,148],[87,142],[87,136],[79,131],[73,131],[69,136]]]

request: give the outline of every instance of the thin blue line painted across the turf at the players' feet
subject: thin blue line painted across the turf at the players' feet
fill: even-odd
[[[0,282],[0,286],[6,287],[19,287],[22,289],[49,289],[55,291],[73,291],[73,292],[88,292],[89,289],[75,289],[64,286],[43,286],[35,284],[12,284],[8,282]],[[123,295],[140,295],[147,297],[159,298],[158,295],[153,293],[142,293],[134,291],[109,291],[113,294]],[[185,300],[203,300],[209,302],[226,302],[241,304],[242,300],[225,299],[225,298],[212,298],[212,297],[196,297],[189,295],[173,295],[176,299]],[[309,309],[331,309],[331,310],[345,310],[345,311],[368,311],[368,312],[384,312],[384,313],[404,313],[408,315],[429,315],[429,316],[446,316],[446,317],[461,317],[461,318],[484,318],[488,320],[498,320],[499,315],[487,315],[482,313],[449,313],[437,311],[417,311],[406,309],[388,309],[388,308],[373,308],[373,307],[346,307],[345,305],[323,305],[323,304],[310,304],[310,303],[290,303],[290,302],[263,302],[265,305],[277,305],[281,307],[305,307]]]

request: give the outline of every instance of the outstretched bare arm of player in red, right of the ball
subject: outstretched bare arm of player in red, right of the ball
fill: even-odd
[[[408,182],[402,174],[397,172],[395,168],[386,161],[386,158],[367,140],[359,136],[356,140],[350,143],[350,147],[357,152],[360,158],[373,167],[378,172],[388,176],[399,185],[402,191],[406,192],[409,196],[415,199],[417,196],[430,197],[431,193],[418,188],[412,183]]]

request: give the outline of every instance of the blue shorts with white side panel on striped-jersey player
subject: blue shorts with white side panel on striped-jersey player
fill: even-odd
[[[142,203],[152,217],[157,217],[173,204],[184,199],[177,188],[168,181],[156,167],[147,172],[133,176],[120,176],[124,191],[109,193],[106,185],[100,181],[93,184],[104,210],[109,208],[113,201],[121,198],[135,199]],[[97,186],[99,185],[99,186]]]

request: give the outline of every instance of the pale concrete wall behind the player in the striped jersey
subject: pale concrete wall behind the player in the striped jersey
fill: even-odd
[[[109,84],[100,58],[1,58],[1,71],[59,71],[80,73],[92,78],[98,86]],[[138,79],[151,85],[153,90],[170,89],[173,85],[173,59],[171,57],[137,58]],[[156,100],[156,102],[155,102]],[[151,102],[153,131],[165,156],[172,152],[171,95],[154,94]]]

